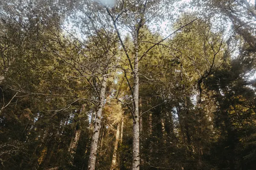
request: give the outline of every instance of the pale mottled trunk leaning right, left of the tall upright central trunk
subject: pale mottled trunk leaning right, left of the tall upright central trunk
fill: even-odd
[[[90,147],[90,156],[88,161],[88,170],[95,170],[98,140],[99,140],[99,130],[100,130],[100,124],[102,119],[102,109],[104,107],[104,101],[105,101],[105,91],[106,91],[106,85],[107,85],[106,82],[107,82],[107,77],[103,76],[102,87],[99,94],[100,102],[99,102],[98,110],[96,112],[96,119],[94,121],[93,137],[92,137],[92,142]]]

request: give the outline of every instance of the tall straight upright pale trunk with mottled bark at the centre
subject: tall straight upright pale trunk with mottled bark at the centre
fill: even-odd
[[[139,120],[139,61],[138,43],[135,45],[134,57],[134,120],[133,120],[133,146],[132,146],[132,170],[140,170],[140,120]]]

